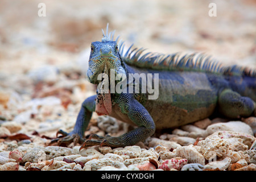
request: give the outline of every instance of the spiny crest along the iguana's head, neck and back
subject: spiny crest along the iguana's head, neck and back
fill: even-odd
[[[106,35],[103,32],[102,42],[114,40],[114,32],[108,34],[109,24],[106,27]],[[114,41],[118,41],[119,36]],[[203,53],[181,53],[176,52],[170,55],[162,53],[143,53],[146,49],[133,48],[133,44],[124,51],[125,44],[119,41],[119,53],[126,64],[139,68],[160,69],[166,71],[201,71],[216,72],[223,75],[246,75],[256,77],[256,70],[241,67],[238,65],[223,66],[220,62],[213,59],[212,56]]]

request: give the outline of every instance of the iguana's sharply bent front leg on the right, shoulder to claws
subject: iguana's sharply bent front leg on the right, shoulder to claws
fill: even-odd
[[[82,144],[80,150],[98,144],[100,146],[110,147],[132,146],[155,133],[155,123],[151,115],[144,106],[135,100],[132,94],[121,94],[116,104],[119,107],[121,115],[127,114],[129,119],[139,127],[120,137],[92,135],[90,139]]]

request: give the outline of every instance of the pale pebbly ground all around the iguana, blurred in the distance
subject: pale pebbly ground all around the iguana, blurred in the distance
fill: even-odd
[[[207,118],[124,148],[48,146],[59,129],[72,131],[95,93],[85,79],[90,43],[107,23],[127,46],[256,69],[255,10],[255,1],[1,1],[0,170],[256,170],[255,117]],[[85,136],[130,129],[93,114]]]

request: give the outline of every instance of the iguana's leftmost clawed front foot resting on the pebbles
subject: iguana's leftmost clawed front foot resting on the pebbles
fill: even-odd
[[[58,138],[57,137],[58,134],[63,135],[63,137]],[[84,142],[84,139],[79,134],[72,133],[72,132],[71,133],[67,133],[67,132],[65,132],[63,130],[59,130],[56,133],[56,138],[51,140],[51,142],[49,143],[49,146],[51,146],[54,143],[57,143],[58,146],[60,146],[61,144],[69,145],[72,142],[74,143],[73,146],[75,146],[77,143]]]

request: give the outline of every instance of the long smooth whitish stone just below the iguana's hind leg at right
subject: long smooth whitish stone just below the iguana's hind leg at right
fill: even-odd
[[[216,123],[210,125],[206,129],[208,135],[215,133],[216,131],[234,131],[238,133],[246,133],[249,135],[253,135],[253,131],[251,127],[244,122],[241,121],[230,121],[226,123]]]

